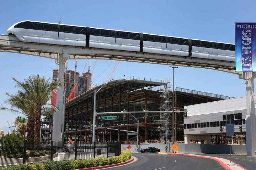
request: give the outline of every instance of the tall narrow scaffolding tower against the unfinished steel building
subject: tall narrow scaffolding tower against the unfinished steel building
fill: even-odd
[[[160,141],[171,142],[172,134],[172,91],[171,83],[168,82],[167,86],[160,91]],[[167,121],[166,121],[167,120]],[[167,136],[167,139],[166,139]]]

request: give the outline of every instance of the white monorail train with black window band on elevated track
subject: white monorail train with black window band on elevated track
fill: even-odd
[[[7,30],[20,41],[94,47],[165,55],[235,61],[235,45],[173,36],[21,21]]]

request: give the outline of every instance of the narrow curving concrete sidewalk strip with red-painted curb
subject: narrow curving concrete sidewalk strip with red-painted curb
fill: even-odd
[[[224,158],[187,154],[187,153],[159,153],[159,155],[185,155],[185,156],[190,156],[190,157],[208,158],[208,159],[213,159],[213,160],[217,161],[225,170],[246,170],[242,166],[240,166],[232,161],[230,163],[230,160],[224,159]]]

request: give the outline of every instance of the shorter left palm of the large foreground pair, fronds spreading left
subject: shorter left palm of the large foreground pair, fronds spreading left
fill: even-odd
[[[34,122],[35,122],[35,113],[36,105],[32,100],[30,94],[22,91],[18,91],[16,95],[11,95],[6,93],[8,99],[5,103],[9,103],[11,108],[1,107],[0,110],[8,110],[12,113],[21,113],[23,114],[27,121],[27,140],[28,145],[33,146],[34,143]]]

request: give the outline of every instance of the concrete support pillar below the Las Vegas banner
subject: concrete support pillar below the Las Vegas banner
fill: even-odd
[[[254,108],[254,78],[255,72],[243,72],[240,79],[246,80],[246,155],[255,156],[256,151],[256,115]]]

